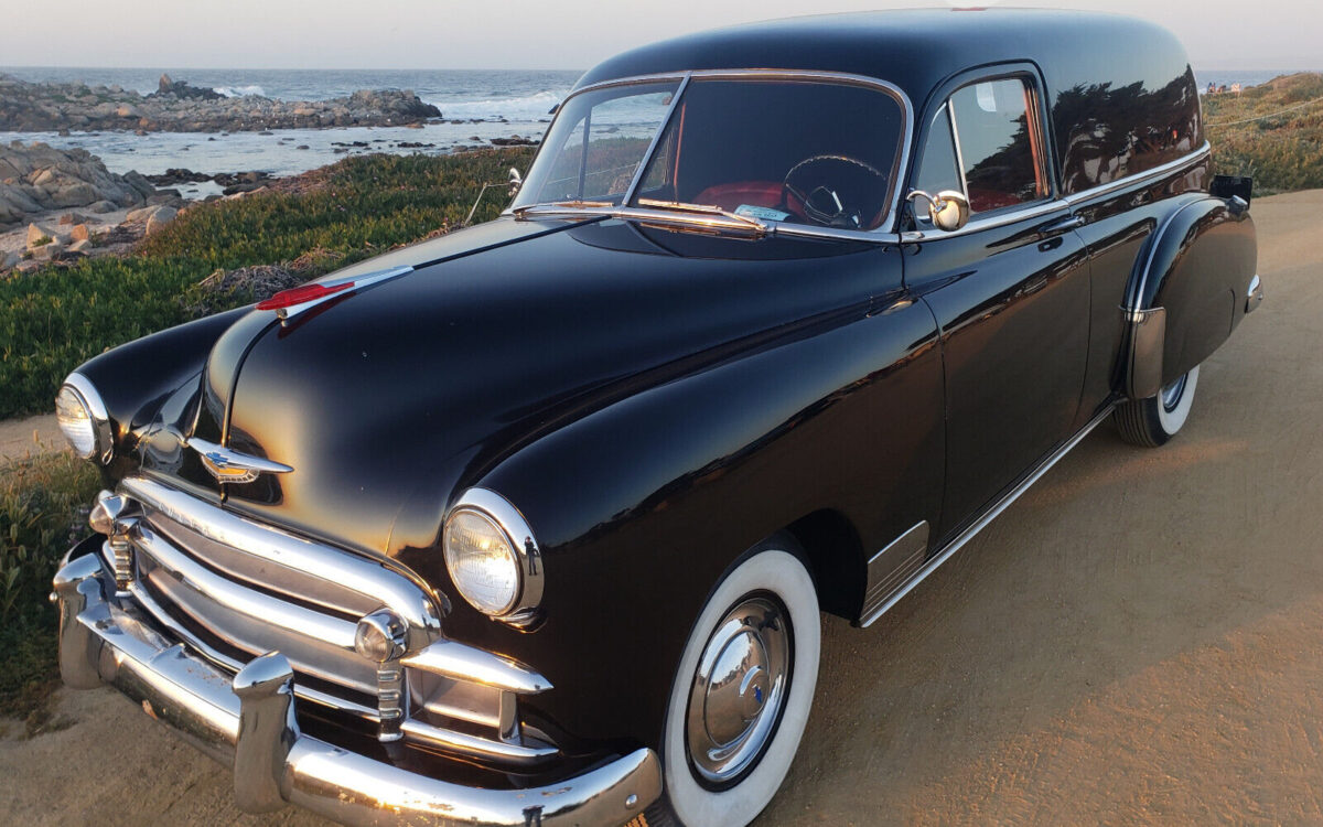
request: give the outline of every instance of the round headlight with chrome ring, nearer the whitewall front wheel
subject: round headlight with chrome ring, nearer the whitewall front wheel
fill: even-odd
[[[541,554],[507,500],[483,488],[467,491],[446,519],[442,548],[450,580],[474,609],[517,626],[534,618]]]

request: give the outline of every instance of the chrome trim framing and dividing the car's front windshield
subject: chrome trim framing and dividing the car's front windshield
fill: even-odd
[[[597,83],[590,83],[581,89],[572,91],[565,101],[561,101],[561,106],[556,112],[560,118],[561,112],[565,111],[565,105],[569,103],[577,95],[587,91],[595,91],[601,89],[610,89],[613,86],[630,86],[635,83],[655,83],[659,81],[681,81],[681,89],[676,90],[676,98],[672,102],[672,110],[667,114],[665,122],[658,130],[654,136],[652,146],[648,147],[648,153],[644,156],[640,164],[640,173],[647,168],[648,163],[652,160],[652,152],[656,151],[658,139],[665,127],[669,124],[671,114],[673,114],[675,106],[680,102],[680,93],[688,86],[692,78],[751,78],[751,79],[789,79],[799,82],[824,82],[824,83],[841,83],[849,86],[863,86],[867,89],[878,90],[892,99],[896,101],[901,107],[901,118],[904,123],[901,124],[900,143],[896,150],[896,157],[890,172],[890,180],[888,181],[888,197],[886,197],[886,213],[882,220],[877,224],[876,229],[872,230],[843,230],[836,228],[816,228],[807,225],[787,225],[775,222],[771,224],[774,228],[769,234],[779,236],[803,236],[808,238],[844,238],[849,241],[868,241],[872,243],[896,243],[897,237],[892,228],[896,225],[896,220],[900,213],[901,193],[904,188],[901,181],[906,179],[909,172],[910,161],[910,146],[914,143],[914,106],[910,103],[909,95],[905,91],[889,81],[881,78],[872,78],[863,74],[851,74],[845,71],[823,71],[814,69],[696,69],[692,71],[664,71],[658,74],[639,74],[627,78],[613,78],[610,81],[599,81]],[[550,132],[552,127],[556,126],[554,122],[546,127]],[[541,148],[538,148],[538,155]],[[533,157],[533,164],[537,163],[537,156]],[[532,167],[532,164],[529,164]],[[631,183],[634,184],[634,183]],[[632,192],[630,193],[634,195]],[[628,200],[622,201],[622,205],[628,204]],[[531,206],[531,205],[525,205]],[[501,216],[513,216],[513,205],[505,208]],[[626,216],[627,217],[627,216]]]

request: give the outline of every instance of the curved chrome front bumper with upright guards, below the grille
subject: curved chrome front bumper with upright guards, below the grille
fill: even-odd
[[[78,550],[78,549],[75,549]],[[283,655],[254,659],[230,680],[155,631],[98,554],[56,576],[60,672],[71,688],[111,684],[217,761],[234,767],[235,803],[286,803],[344,824],[622,824],[662,794],[656,753],[639,749],[546,787],[490,790],[439,781],[299,732],[294,672]]]

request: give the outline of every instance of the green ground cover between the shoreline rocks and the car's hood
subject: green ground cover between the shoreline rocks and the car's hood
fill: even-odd
[[[352,157],[271,192],[192,206],[132,254],[0,281],[0,419],[49,412],[81,363],[187,322],[191,307],[214,308],[196,294],[216,270],[299,261],[311,278],[445,232],[464,220],[484,183],[504,181],[531,156],[517,148]],[[488,192],[474,221],[501,208],[501,192]],[[232,307],[251,300],[226,298]]]

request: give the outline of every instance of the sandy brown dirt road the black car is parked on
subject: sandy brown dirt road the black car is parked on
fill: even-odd
[[[1323,192],[1254,205],[1267,300],[1160,450],[1099,429],[868,630],[827,621],[781,824],[1323,823]],[[110,691],[0,741],[0,822],[245,816]]]

